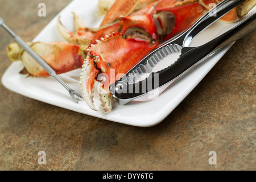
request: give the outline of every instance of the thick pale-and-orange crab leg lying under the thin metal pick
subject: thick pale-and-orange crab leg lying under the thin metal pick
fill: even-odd
[[[39,56],[56,72],[56,74],[72,71],[81,68],[84,61],[84,53],[75,44],[63,42],[28,43]],[[26,68],[23,73],[30,73],[32,76],[49,76],[32,57],[24,51],[17,43],[7,47],[7,53],[11,60],[21,60]]]

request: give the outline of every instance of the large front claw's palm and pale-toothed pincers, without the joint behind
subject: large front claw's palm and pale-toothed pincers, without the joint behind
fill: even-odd
[[[123,35],[117,32],[102,42],[92,45],[89,48],[90,51],[80,75],[81,90],[88,106],[97,110],[93,105],[93,85],[100,73],[98,71],[104,73],[105,82],[102,82],[103,85],[99,93],[101,105],[104,111],[109,113],[112,110],[113,102],[109,93],[111,81],[115,81],[117,76],[126,73],[127,70],[137,64],[143,55],[158,46],[158,43],[149,44],[143,40],[124,39]],[[94,64],[96,64],[96,67],[94,67]]]

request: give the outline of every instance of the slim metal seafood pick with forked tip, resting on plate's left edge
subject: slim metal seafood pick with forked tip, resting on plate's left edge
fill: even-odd
[[[64,86],[65,89],[68,90],[70,96],[72,99],[78,103],[77,97],[82,98],[79,93],[77,93],[75,90],[71,89],[59,76],[56,75],[56,72],[40,57],[33,49],[31,49],[18,35],[16,35],[9,27],[6,26],[6,24],[3,22],[3,19],[0,17],[0,26],[3,27],[15,40],[16,43],[18,43],[25,51],[27,51],[28,54],[36,61],[38,62],[52,77],[54,77],[57,81],[60,82],[61,85]]]

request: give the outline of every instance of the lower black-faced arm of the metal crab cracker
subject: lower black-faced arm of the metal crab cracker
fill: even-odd
[[[185,73],[191,72],[195,68],[195,65],[211,56],[212,53],[216,52],[218,49],[228,46],[230,43],[235,42],[250,31],[254,30],[256,28],[255,19],[256,13],[243,20],[240,24],[231,28],[229,31],[226,31],[224,34],[202,46],[183,48],[182,51],[185,53],[181,53],[180,58],[173,65],[157,73],[151,73],[150,76],[142,81],[127,85],[126,82],[121,80],[119,84],[122,84],[121,90],[125,90],[125,93],[116,92],[114,96],[115,99],[118,104],[125,105],[135,98],[154,92],[155,89],[179,80],[186,75]],[[154,83],[157,83],[157,85]],[[148,84],[151,84],[151,86],[148,87]]]

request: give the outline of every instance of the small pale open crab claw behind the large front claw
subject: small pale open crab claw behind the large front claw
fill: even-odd
[[[73,13],[73,19],[75,32],[67,30],[67,28],[65,28],[61,23],[59,17],[59,19],[57,20],[57,28],[60,32],[60,35],[63,36],[63,38],[67,40],[67,42],[77,44],[81,46],[82,49],[86,49],[92,42],[92,39],[97,30],[96,28],[87,28],[80,16],[75,13]]]

